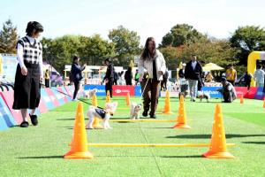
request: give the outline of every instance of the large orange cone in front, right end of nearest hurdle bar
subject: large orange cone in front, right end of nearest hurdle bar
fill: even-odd
[[[220,104],[216,104],[215,121],[210,148],[208,152],[203,154],[203,156],[206,158],[234,158],[231,153],[226,151],[223,115]]]

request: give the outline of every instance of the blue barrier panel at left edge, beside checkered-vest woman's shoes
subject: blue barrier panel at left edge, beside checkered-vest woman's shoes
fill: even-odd
[[[4,103],[4,99],[0,96],[0,131],[9,127],[16,126],[16,121],[13,119],[11,112],[7,105]]]

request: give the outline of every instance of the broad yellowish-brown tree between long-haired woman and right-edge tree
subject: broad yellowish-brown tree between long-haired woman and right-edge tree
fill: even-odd
[[[216,63],[226,67],[229,64],[238,64],[235,58],[238,50],[231,47],[231,43],[225,39],[201,38],[195,43],[181,45],[179,47],[165,47],[160,49],[169,69],[176,69],[180,62],[189,62],[193,54],[197,55],[203,63]]]

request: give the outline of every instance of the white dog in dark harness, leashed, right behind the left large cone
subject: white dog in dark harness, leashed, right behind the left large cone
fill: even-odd
[[[116,112],[117,102],[108,103],[105,106],[105,109],[100,109],[95,106],[90,106],[87,111],[87,117],[89,119],[86,128],[93,129],[93,122],[95,117],[103,119],[103,128],[111,128],[110,127],[110,117]]]

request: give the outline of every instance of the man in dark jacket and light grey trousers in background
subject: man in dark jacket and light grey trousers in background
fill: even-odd
[[[202,78],[202,66],[201,63],[197,61],[196,55],[193,54],[191,61],[186,64],[184,75],[188,81],[191,101],[195,102],[198,91],[198,81]]]

